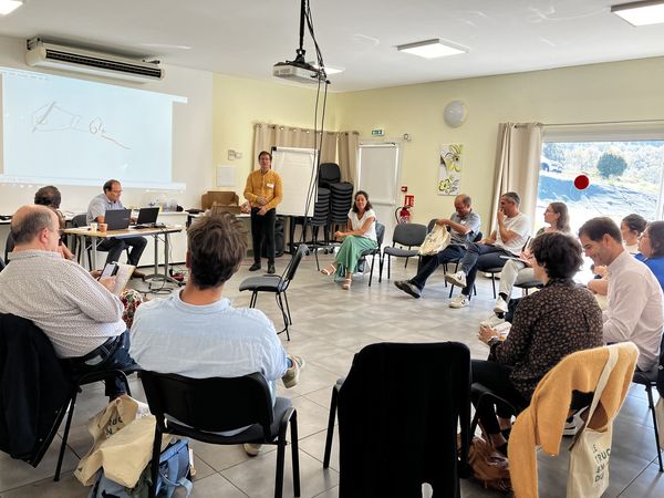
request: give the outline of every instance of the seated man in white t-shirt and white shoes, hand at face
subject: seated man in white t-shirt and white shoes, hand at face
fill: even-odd
[[[501,268],[507,259],[518,257],[530,235],[530,219],[519,211],[521,198],[516,191],[500,196],[500,207],[496,215],[498,229],[476,243],[469,243],[466,256],[459,266],[461,269],[454,274],[445,276],[448,282],[463,287],[461,293],[449,302],[450,308],[468,305],[470,291],[475,286],[477,270]]]

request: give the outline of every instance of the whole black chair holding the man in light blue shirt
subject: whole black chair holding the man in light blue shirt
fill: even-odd
[[[142,372],[141,380],[149,411],[156,417],[152,483],[156,483],[163,434],[187,436],[215,445],[243,443],[277,445],[274,497],[283,494],[286,434],[290,423],[293,494],[300,496],[298,413],[290,400],[277,397],[272,407],[270,390],[260,373],[232,378],[188,378],[175,374]],[[249,428],[235,436],[220,432]],[[155,496],[154,485],[149,488]]]

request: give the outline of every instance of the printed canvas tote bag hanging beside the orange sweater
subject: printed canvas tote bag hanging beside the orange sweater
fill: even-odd
[[[609,360],[600,375],[587,421],[592,419],[609,381],[609,375],[618,361],[618,351],[609,347]],[[613,437],[613,421],[603,433],[588,427],[588,422],[570,446],[570,470],[568,475],[568,498],[599,498],[609,487],[609,457]]]

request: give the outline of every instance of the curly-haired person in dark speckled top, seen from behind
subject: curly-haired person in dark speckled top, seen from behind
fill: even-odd
[[[535,277],[544,283],[527,295],[515,312],[509,335],[499,339],[495,329],[483,325],[479,340],[488,344],[488,361],[473,361],[473,382],[509,402],[517,411],[530,404],[539,381],[562,357],[602,345],[602,312],[592,293],[577,287],[572,277],[582,264],[581,246],[561,232],[542,234],[532,241]],[[507,455],[506,435],[511,414],[498,406],[473,400],[491,444]]]

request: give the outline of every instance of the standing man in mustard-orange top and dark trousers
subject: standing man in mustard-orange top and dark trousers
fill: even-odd
[[[247,177],[245,198],[251,205],[251,239],[253,242],[253,264],[249,271],[260,270],[262,239],[268,246],[268,273],[274,273],[274,217],[277,205],[281,203],[281,177],[272,168],[272,154],[267,151],[258,155],[260,169]]]

